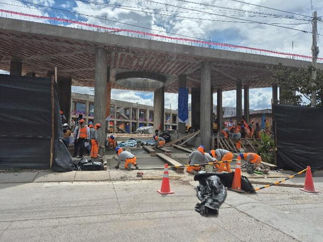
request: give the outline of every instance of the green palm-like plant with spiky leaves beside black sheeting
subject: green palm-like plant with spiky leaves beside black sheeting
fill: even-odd
[[[275,163],[275,141],[270,135],[262,133],[260,135],[260,143],[257,147],[257,154],[263,162]]]

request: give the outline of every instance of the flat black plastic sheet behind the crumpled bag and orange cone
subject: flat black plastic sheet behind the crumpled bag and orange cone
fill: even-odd
[[[224,173],[224,172],[207,172],[207,173],[198,173],[194,176],[195,181],[202,181],[203,179],[206,179],[209,176],[218,176],[221,179],[221,183],[228,188],[231,188],[234,172]],[[255,193],[255,190],[248,180],[247,177],[241,176],[241,189],[250,192]]]

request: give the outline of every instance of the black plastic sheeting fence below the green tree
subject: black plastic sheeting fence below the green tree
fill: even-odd
[[[300,171],[323,169],[323,108],[274,105],[277,165]]]

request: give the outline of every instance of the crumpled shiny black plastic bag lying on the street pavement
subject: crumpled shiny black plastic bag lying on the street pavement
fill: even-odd
[[[194,177],[195,179],[195,177]],[[202,216],[218,215],[220,206],[227,198],[226,187],[218,176],[200,176],[196,186],[196,196],[201,201],[195,205],[195,211]]]

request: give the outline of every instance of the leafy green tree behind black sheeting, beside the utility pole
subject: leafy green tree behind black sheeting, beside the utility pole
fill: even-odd
[[[316,69],[316,79],[312,86],[311,73],[313,66],[291,69],[281,63],[277,67],[268,67],[272,72],[272,80],[280,86],[280,99],[282,104],[310,106],[312,90],[316,93],[316,106],[323,106],[323,71]],[[296,95],[294,92],[296,91]],[[304,96],[308,102],[302,99]]]

